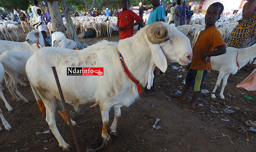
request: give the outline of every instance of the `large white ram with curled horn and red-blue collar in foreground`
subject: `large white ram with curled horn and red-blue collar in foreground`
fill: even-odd
[[[50,67],[56,66],[65,101],[76,110],[78,105],[96,100],[102,115],[101,135],[104,141],[109,141],[110,108],[115,111],[110,134],[117,135],[120,107],[131,105],[139,97],[137,85],[124,73],[119,52],[133,77],[148,89],[153,84],[155,66],[165,72],[167,62],[187,65],[192,57],[189,39],[184,34],[164,22],[155,22],[119,43],[102,41],[80,51],[44,47],[27,61],[30,85],[42,98],[46,121],[64,151],[69,150],[70,145],[61,137],[55,122],[56,110],[63,113],[64,108]],[[71,76],[67,75],[67,67],[103,67],[104,73],[101,76]]]

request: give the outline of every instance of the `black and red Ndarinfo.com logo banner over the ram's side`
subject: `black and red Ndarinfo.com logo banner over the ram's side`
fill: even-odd
[[[67,67],[67,75],[104,75],[103,67]]]

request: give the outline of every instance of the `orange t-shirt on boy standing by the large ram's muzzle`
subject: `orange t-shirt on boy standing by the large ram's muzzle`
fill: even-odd
[[[193,48],[191,68],[194,70],[212,70],[211,62],[205,63],[203,54],[214,51],[216,47],[224,44],[225,42],[216,26],[201,31]]]

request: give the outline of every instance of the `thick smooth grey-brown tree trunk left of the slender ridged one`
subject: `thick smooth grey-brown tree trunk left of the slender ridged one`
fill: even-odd
[[[60,15],[58,1],[52,1],[52,3],[47,1],[47,4],[49,7],[53,31],[65,33],[65,27]]]

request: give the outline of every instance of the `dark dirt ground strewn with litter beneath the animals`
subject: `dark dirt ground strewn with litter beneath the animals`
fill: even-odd
[[[19,25],[20,26],[20,25]],[[23,34],[23,41],[26,34]],[[118,40],[118,34],[101,38],[83,39],[84,43],[94,44],[106,39]],[[230,75],[224,90],[226,100],[219,97],[220,87],[216,91],[216,100],[211,99],[211,94],[202,94],[196,103],[194,110],[180,108],[180,104],[191,99],[192,91],[189,91],[186,100],[180,101],[171,94],[181,87],[185,75],[181,78],[177,75],[180,69],[177,63],[170,63],[166,73],[160,75],[157,70],[157,91],[153,96],[141,97],[129,107],[122,107],[122,116],[118,120],[118,136],[112,137],[112,143],[99,149],[98,152],[256,152],[256,133],[249,131],[245,125],[246,120],[256,121],[256,102],[249,101],[244,95],[256,99],[255,91],[246,91],[237,88],[236,85],[244,80],[255,68],[255,65],[247,64],[235,75]],[[217,81],[218,71],[208,73],[203,89],[212,91]],[[5,84],[4,96],[14,109],[8,112],[4,102],[0,101],[0,107],[4,117],[12,126],[8,132],[3,129],[0,132],[0,152],[61,152],[58,141],[50,132],[36,135],[36,132],[49,130],[44,117],[41,116],[38,105],[31,91],[26,77],[20,79],[27,84],[22,87],[18,84],[20,93],[29,100],[29,103],[14,101]],[[199,106],[202,105],[202,106]],[[72,120],[78,122],[74,128],[81,152],[87,148],[98,148],[102,145],[101,130],[102,119],[99,106],[89,108],[92,104],[81,105],[81,113],[75,113],[74,108],[68,105]],[[234,110],[234,113],[225,113],[224,109]],[[212,113],[211,111],[218,111]],[[110,110],[110,124],[113,121],[114,110]],[[155,119],[160,118],[159,129],[153,129]],[[229,121],[223,121],[229,120]],[[71,131],[60,114],[56,114],[56,124],[61,136],[76,151]],[[1,124],[3,128],[3,125]],[[110,132],[110,125],[108,132]]]

